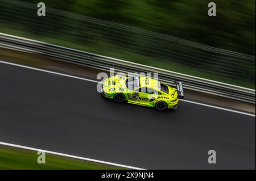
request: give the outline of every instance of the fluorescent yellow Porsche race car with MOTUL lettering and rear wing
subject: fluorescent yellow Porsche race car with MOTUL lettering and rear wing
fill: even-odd
[[[138,76],[127,77],[115,75],[102,83],[101,94],[115,102],[128,102],[141,106],[155,107],[164,111],[167,108],[176,110],[179,99],[184,98],[181,82],[175,87],[168,86],[155,79]]]

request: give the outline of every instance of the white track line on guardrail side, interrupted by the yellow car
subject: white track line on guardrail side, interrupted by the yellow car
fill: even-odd
[[[19,64],[14,64],[14,63],[11,63],[11,62],[1,61],[1,60],[0,60],[0,63],[2,63],[2,64],[8,64],[8,65],[14,65],[14,66],[19,66],[19,67],[21,67],[21,68],[27,68],[27,69],[32,69],[32,70],[43,71],[43,72],[46,72],[46,73],[51,73],[51,74],[56,74],[56,75],[63,75],[63,76],[65,76],[65,77],[76,78],[76,79],[80,79],[80,80],[83,80],[83,81],[89,81],[89,82],[99,83],[99,81],[94,81],[94,80],[92,80],[92,79],[86,79],[86,78],[76,77],[76,76],[73,76],[73,75],[68,75],[68,74],[63,74],[63,73],[57,73],[57,72],[55,72],[55,71],[49,71],[49,70],[44,70],[44,69],[32,68],[31,66],[19,65]],[[247,113],[247,112],[242,112],[242,111],[236,111],[236,110],[230,110],[230,109],[228,109],[228,108],[223,108],[223,107],[218,107],[218,106],[212,106],[212,105],[209,105],[209,104],[203,104],[203,103],[199,103],[199,102],[193,102],[193,101],[191,101],[191,100],[182,100],[182,99],[181,99],[181,101],[187,102],[187,103],[192,103],[192,104],[197,104],[197,105],[200,105],[200,106],[206,106],[206,107],[210,107],[210,108],[216,108],[216,109],[218,109],[218,110],[229,111],[229,112],[234,112],[234,113],[240,113],[240,114],[242,114],[242,115],[255,117],[255,115],[252,114],[252,113]]]

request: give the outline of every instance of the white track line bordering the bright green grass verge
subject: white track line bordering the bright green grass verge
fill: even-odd
[[[123,168],[126,168],[126,169],[145,170],[145,169],[141,169],[141,168],[138,168],[138,167],[132,167],[132,166],[121,165],[121,164],[117,164],[117,163],[105,162],[105,161],[100,161],[100,160],[97,160],[97,159],[90,159],[90,158],[84,158],[84,157],[77,157],[77,156],[70,155],[70,154],[57,153],[57,152],[55,152],[55,151],[48,151],[48,150],[44,150],[44,149],[31,148],[31,147],[28,147],[28,146],[21,146],[21,145],[9,144],[9,143],[7,143],[7,142],[1,142],[1,141],[0,141],[0,145],[11,146],[11,147],[21,148],[21,149],[26,149],[26,150],[33,150],[33,151],[43,151],[43,152],[48,153],[48,154],[55,154],[55,155],[60,155],[60,156],[63,156],[63,157],[82,159],[82,160],[84,160],[84,161],[97,162],[97,163],[102,163],[102,164],[105,164],[105,165],[123,167]]]

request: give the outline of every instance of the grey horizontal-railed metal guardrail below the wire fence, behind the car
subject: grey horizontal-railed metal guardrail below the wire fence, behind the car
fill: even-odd
[[[23,37],[0,33],[0,47],[44,54],[46,56],[56,58],[60,61],[70,62],[72,64],[79,64],[83,66],[90,66],[102,70],[109,70],[109,68],[114,68],[115,70],[123,73],[156,72],[159,73],[159,81],[164,83],[170,84],[174,83],[175,80],[180,80],[184,84],[184,89],[205,92],[207,94],[223,96],[225,98],[236,99],[255,104],[255,90],[253,89],[247,89],[245,87],[230,85],[227,83],[212,81],[199,77],[193,77],[191,75],[185,75],[176,73],[174,71],[136,64],[134,62],[118,60],[116,58],[100,56],[98,54],[83,52],[71,48],[60,47],[41,41],[35,41],[25,39]]]

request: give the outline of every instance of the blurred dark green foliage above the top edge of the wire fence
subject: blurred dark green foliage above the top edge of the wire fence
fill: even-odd
[[[23,0],[38,3],[37,0]],[[206,0],[45,0],[47,6],[255,55],[255,1]]]

